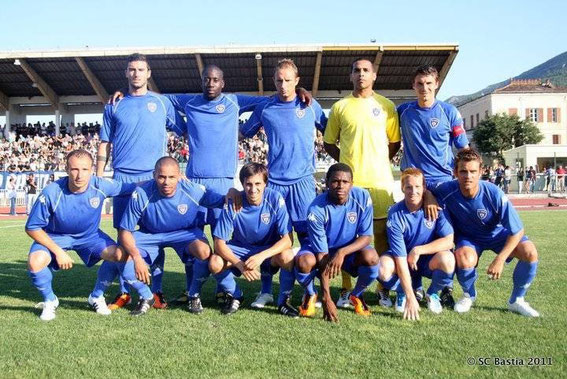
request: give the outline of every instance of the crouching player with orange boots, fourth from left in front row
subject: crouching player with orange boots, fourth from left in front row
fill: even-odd
[[[344,163],[329,168],[327,191],[309,206],[309,246],[295,258],[297,281],[306,289],[300,315],[315,314],[317,294],[313,278],[320,273],[323,291],[323,318],[338,321],[337,308],[330,293],[329,281],[341,270],[358,276],[350,301],[356,313],[370,315],[364,302],[364,290],[378,277],[378,254],[372,242],[372,199],[368,191],[352,186],[352,170]]]

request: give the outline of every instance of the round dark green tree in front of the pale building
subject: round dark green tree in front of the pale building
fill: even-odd
[[[478,123],[473,140],[481,153],[502,158],[513,147],[538,143],[543,139],[538,127],[517,115],[495,114]]]

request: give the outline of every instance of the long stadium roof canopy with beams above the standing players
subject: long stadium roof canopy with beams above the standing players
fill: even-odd
[[[319,99],[335,100],[349,91],[350,64],[368,58],[378,68],[375,89],[393,99],[413,96],[412,72],[432,64],[443,83],[457,53],[456,44],[430,45],[269,45],[178,48],[109,48],[0,52],[0,106],[106,102],[109,93],[126,84],[126,58],[148,56],[152,90],[161,93],[201,92],[200,72],[215,64],[225,74],[225,91],[275,91],[273,67],[291,58],[299,67],[300,85]]]

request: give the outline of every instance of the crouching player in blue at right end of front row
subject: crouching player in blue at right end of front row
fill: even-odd
[[[522,221],[508,197],[496,185],[480,180],[481,163],[475,150],[461,150],[455,165],[457,179],[433,188],[433,194],[455,228],[457,279],[464,292],[455,304],[455,311],[470,310],[476,299],[474,285],[478,260],[484,250],[492,250],[497,255],[488,266],[490,279],[500,279],[504,264],[518,259],[508,309],[524,316],[538,317],[539,313],[524,300],[536,276],[537,249],[524,235]]]

